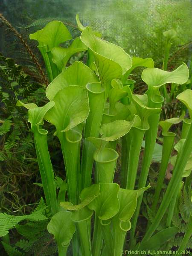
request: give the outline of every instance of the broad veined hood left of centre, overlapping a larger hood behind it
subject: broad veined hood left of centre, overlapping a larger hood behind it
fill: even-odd
[[[60,132],[66,132],[79,125],[89,114],[87,90],[81,86],[68,86],[60,90],[53,98],[55,106],[50,109],[45,119],[56,127],[58,137]]]

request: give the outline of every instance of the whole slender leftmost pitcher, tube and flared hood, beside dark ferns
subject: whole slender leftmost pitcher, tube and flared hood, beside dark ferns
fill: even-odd
[[[54,172],[52,169],[52,163],[49,157],[49,151],[47,147],[47,130],[42,129],[44,124],[44,116],[55,103],[53,101],[48,102],[44,107],[38,108],[35,104],[24,104],[23,102],[17,102],[17,105],[28,108],[28,122],[31,123],[31,131],[34,133],[35,149],[38,159],[38,166],[41,174],[41,180],[44,189],[44,195],[46,204],[49,207],[49,211],[54,215],[58,211],[56,190],[54,181]]]

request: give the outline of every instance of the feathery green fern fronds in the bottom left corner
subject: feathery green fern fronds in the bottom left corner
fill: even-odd
[[[9,230],[15,227],[22,238],[16,241],[15,244],[9,244],[2,241],[3,247],[9,256],[18,255],[39,255],[52,256],[56,253],[55,243],[52,237],[47,232],[48,220],[45,214],[46,205],[41,199],[35,210],[29,215],[13,216],[1,213],[0,226],[2,235],[5,235]],[[25,221],[26,220],[26,221]],[[23,222],[24,221],[24,222]],[[18,224],[21,222],[21,224]],[[18,236],[17,234],[17,236]]]

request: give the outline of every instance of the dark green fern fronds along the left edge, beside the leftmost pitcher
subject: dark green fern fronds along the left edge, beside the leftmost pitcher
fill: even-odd
[[[11,58],[0,55],[0,99],[1,99],[1,121],[0,121],[0,160],[8,160],[12,157],[11,150],[19,149],[22,130],[26,125],[23,111],[16,107],[17,99],[28,98],[40,85],[32,81],[26,75],[21,66],[16,65]],[[25,129],[23,130],[25,132]],[[29,138],[24,141],[31,148]]]

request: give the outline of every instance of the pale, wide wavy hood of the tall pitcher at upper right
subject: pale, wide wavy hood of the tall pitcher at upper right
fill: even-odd
[[[164,71],[158,68],[146,68],[141,78],[149,87],[161,87],[163,84],[176,83],[184,84],[188,80],[189,70],[185,63],[174,71]]]

